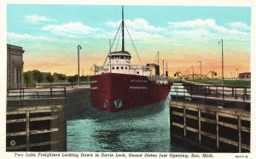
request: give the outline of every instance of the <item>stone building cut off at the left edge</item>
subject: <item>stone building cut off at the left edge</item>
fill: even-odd
[[[21,88],[24,52],[22,47],[7,44],[7,88]]]

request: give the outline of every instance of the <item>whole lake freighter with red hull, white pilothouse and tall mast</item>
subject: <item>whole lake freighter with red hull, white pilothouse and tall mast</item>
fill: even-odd
[[[111,52],[110,47],[104,62],[109,60],[108,65],[95,65],[95,75],[90,78],[92,106],[102,111],[125,111],[160,102],[172,86],[168,77],[160,76],[159,65],[131,65],[131,54],[125,51],[123,8],[120,27],[121,51]]]

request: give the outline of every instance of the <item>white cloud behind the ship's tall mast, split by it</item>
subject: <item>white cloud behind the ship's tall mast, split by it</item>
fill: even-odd
[[[121,21],[108,21],[107,26],[118,27]],[[135,19],[135,20],[125,20],[125,26],[134,31],[166,31],[166,28],[156,27],[148,24],[147,20]]]

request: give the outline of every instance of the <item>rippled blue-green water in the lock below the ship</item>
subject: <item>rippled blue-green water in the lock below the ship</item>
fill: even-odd
[[[170,97],[155,105],[108,113],[90,109],[67,120],[68,151],[183,151],[170,141]]]

